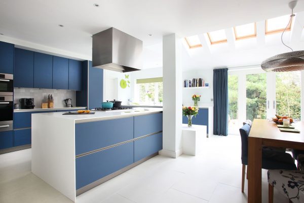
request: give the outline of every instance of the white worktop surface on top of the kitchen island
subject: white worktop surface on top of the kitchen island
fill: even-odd
[[[66,112],[56,112],[56,113],[41,113],[41,114],[32,114],[32,116],[46,116],[48,119],[52,118],[61,118],[67,120],[74,120],[76,123],[80,122],[89,122],[97,120],[109,120],[117,118],[126,118],[131,116],[146,115],[152,113],[163,112],[162,108],[134,108],[127,110],[115,110],[115,111],[91,111],[95,114],[79,114],[79,115],[62,115]]]

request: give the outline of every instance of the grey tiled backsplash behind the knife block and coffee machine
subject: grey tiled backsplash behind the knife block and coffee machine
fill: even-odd
[[[71,98],[73,107],[76,106],[76,91],[57,89],[14,88],[14,103],[20,105],[20,98],[34,98],[35,109],[40,109],[42,99],[48,98],[49,94],[53,95],[54,108],[64,108],[66,98]]]

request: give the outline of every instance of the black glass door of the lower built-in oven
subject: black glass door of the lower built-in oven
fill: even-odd
[[[0,122],[12,121],[13,114],[13,96],[0,96]]]

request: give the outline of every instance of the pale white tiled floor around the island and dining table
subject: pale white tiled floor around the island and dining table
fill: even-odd
[[[0,202],[71,202],[30,171],[31,150],[0,155]],[[241,192],[241,139],[211,136],[198,156],[156,156],[77,197],[95,202],[247,202]],[[262,199],[268,202],[267,171]],[[275,202],[288,202],[275,190]]]

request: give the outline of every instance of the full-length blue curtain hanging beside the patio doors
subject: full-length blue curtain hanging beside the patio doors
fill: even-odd
[[[228,69],[213,70],[213,134],[228,134]]]

